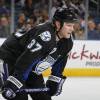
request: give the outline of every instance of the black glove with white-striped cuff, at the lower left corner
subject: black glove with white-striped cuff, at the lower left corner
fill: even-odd
[[[23,87],[23,84],[13,76],[9,76],[3,89],[2,96],[5,99],[13,99],[16,96],[16,91]]]

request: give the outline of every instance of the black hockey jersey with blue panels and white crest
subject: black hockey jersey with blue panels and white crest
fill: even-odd
[[[26,80],[32,70],[41,74],[48,67],[60,77],[72,46],[71,37],[56,41],[55,28],[47,22],[15,32],[0,47],[0,59],[13,66],[19,80]]]

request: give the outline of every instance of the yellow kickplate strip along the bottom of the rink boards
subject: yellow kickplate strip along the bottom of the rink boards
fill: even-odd
[[[51,70],[47,69],[43,72],[43,76],[50,75]],[[64,76],[100,76],[100,68],[66,68],[63,72]]]

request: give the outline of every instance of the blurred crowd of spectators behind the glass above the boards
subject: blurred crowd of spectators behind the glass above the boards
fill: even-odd
[[[100,0],[0,0],[0,37],[51,20],[57,7],[74,6],[81,14],[75,40],[100,40]]]

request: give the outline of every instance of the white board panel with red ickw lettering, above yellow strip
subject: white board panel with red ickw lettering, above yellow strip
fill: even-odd
[[[75,40],[66,67],[100,68],[100,41]]]

